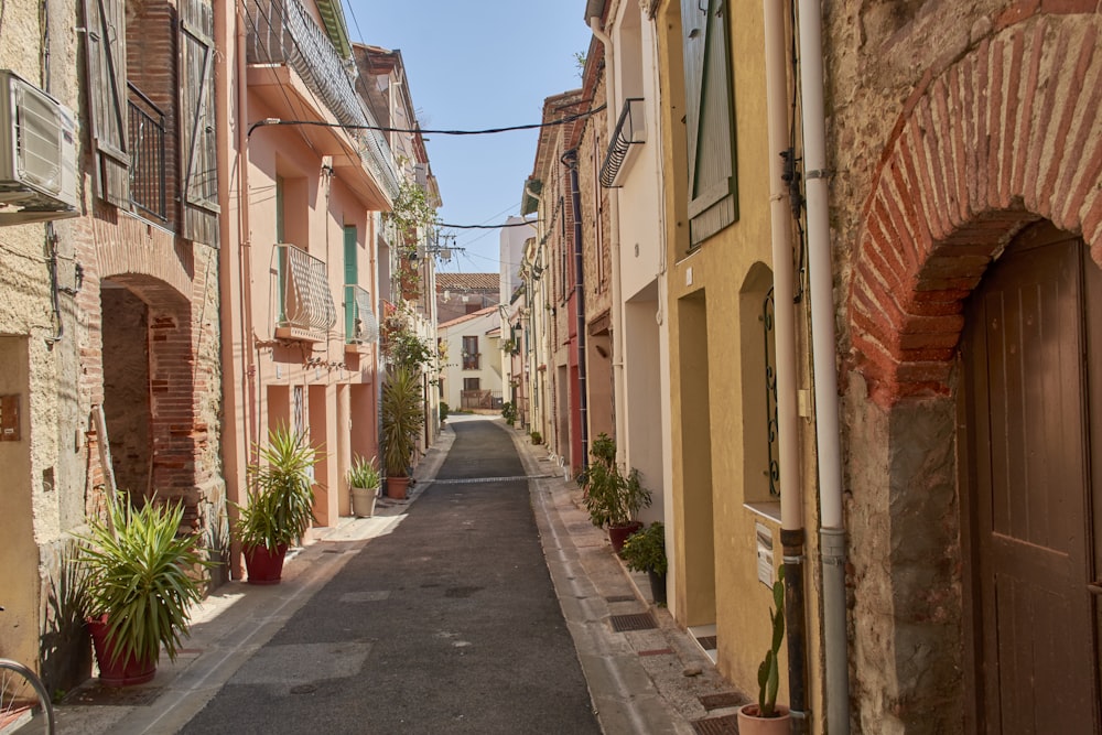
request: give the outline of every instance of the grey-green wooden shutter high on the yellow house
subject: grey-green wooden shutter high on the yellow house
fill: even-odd
[[[727,4],[681,0],[691,247],[738,218]]]

